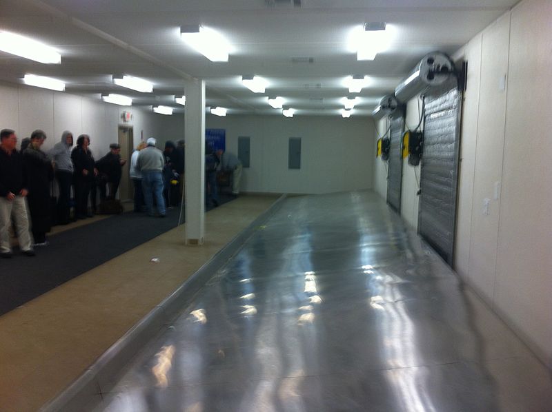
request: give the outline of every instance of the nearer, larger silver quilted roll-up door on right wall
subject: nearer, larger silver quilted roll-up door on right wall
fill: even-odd
[[[456,229],[462,92],[426,94],[418,231],[449,265]]]

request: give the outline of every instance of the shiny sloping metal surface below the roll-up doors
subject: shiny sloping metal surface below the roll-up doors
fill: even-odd
[[[550,411],[546,369],[371,192],[289,198],[97,411]]]

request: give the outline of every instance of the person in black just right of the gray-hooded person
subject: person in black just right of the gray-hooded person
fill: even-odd
[[[98,169],[95,167],[94,156],[88,149],[90,136],[81,134],[77,138],[77,147],[71,152],[71,160],[75,167],[75,197],[77,198],[77,219],[92,217],[88,212],[88,197],[90,185],[95,183]],[[92,200],[95,203],[95,199]]]

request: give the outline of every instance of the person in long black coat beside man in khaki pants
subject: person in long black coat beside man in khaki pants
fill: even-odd
[[[50,210],[50,182],[54,178],[52,161],[40,150],[46,140],[46,133],[34,130],[30,145],[23,151],[23,167],[27,174],[27,200],[32,222],[31,231],[35,246],[46,246],[46,233],[52,229]]]

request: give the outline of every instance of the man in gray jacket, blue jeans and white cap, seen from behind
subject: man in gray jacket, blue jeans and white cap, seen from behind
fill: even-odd
[[[148,216],[153,214],[153,197],[157,204],[157,212],[159,217],[166,216],[165,199],[163,198],[163,167],[165,166],[165,158],[163,152],[157,149],[155,145],[157,141],[150,137],[146,141],[146,148],[140,150],[136,169],[142,174],[142,189],[144,190],[144,200],[146,201],[146,209]]]

